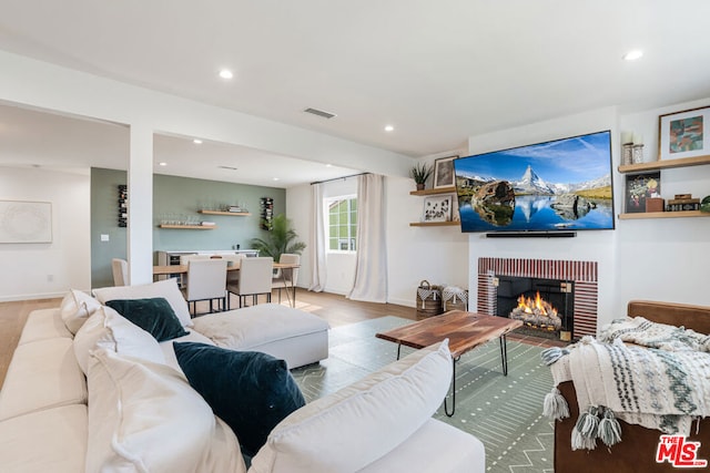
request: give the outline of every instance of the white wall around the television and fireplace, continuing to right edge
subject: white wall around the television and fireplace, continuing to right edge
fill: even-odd
[[[710,100],[702,102],[710,103]],[[656,156],[658,115],[702,103],[677,104],[635,115],[619,115],[615,107],[590,111],[469,138],[470,154],[515,147],[601,130],[612,131],[616,214],[623,212],[626,175],[616,172],[620,157],[620,131],[645,136],[647,160]],[[662,171],[661,195],[692,192],[710,194],[710,166]],[[616,230],[579,232],[576,238],[469,237],[471,307],[476,307],[476,270],[479,257],[575,259],[599,264],[599,323],[626,313],[629,299],[652,299],[710,305],[703,289],[710,265],[710,218],[618,220]]]

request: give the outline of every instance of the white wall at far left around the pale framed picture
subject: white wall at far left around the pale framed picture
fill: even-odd
[[[0,300],[61,297],[70,288],[89,290],[90,177],[0,167],[0,199],[52,204],[52,243],[0,244]]]

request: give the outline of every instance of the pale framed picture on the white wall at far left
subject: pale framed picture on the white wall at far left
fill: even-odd
[[[0,243],[52,243],[52,204],[0,200]]]

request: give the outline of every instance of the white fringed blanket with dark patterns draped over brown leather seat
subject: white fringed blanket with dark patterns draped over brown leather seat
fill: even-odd
[[[601,343],[585,337],[565,349],[542,352],[555,385],[571,380],[579,419],[572,450],[595,449],[621,440],[616,418],[665,433],[688,435],[692,421],[710,414],[710,353],[665,351]],[[544,414],[562,419],[569,409],[557,388],[545,400]]]

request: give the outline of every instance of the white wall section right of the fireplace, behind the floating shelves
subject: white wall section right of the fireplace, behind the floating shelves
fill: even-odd
[[[656,161],[658,116],[708,105],[710,97],[621,115],[620,131],[642,134],[645,161]],[[665,199],[687,193],[710,195],[710,166],[661,171]],[[710,305],[710,217],[620,220],[617,228],[616,307],[632,298]]]

